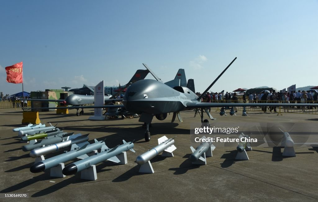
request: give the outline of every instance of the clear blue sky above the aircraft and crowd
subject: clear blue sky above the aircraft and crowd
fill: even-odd
[[[214,92],[318,85],[318,1],[0,1],[4,67],[24,63],[24,90],[126,84],[146,63],[163,80],[179,68]],[[149,74],[149,79],[153,79]]]

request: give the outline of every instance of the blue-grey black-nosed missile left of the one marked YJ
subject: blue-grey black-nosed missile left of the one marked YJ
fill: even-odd
[[[85,144],[84,146],[80,147],[79,149],[74,149],[74,148],[78,148],[78,146],[76,144],[73,144],[71,151],[64,153],[64,154],[60,154],[60,155],[55,156],[55,157],[47,158],[43,161],[39,161],[38,163],[35,163],[31,166],[30,171],[33,173],[38,173],[38,172],[42,172],[42,171],[45,171],[47,169],[53,168],[61,163],[65,163],[67,161],[70,161],[74,158],[84,159],[84,158],[88,157],[87,153],[90,153],[93,150],[98,150],[98,149],[106,146],[104,141],[97,141],[96,139],[94,139],[94,141],[95,141],[95,143]],[[72,149],[74,149],[74,150],[72,150]]]

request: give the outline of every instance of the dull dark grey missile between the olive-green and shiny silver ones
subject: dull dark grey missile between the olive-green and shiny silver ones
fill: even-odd
[[[38,142],[35,142],[34,144],[27,144],[22,147],[23,151],[31,151],[36,148],[42,147],[43,145],[51,145],[55,143],[59,143],[65,140],[68,140],[69,136],[73,135],[72,133],[59,133],[55,137],[46,137],[43,140],[40,140]],[[78,135],[78,134],[76,134]],[[81,135],[81,134],[80,134]]]

